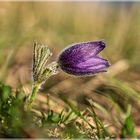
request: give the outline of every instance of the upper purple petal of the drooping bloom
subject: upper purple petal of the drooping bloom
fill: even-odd
[[[105,43],[103,41],[77,43],[63,50],[59,60],[62,60],[64,63],[71,61],[78,63],[89,57],[96,56],[104,48]]]

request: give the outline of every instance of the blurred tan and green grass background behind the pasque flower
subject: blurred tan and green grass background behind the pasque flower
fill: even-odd
[[[114,117],[131,104],[140,133],[139,17],[138,2],[0,2],[0,80],[14,88],[22,84],[25,91],[31,90],[34,40],[48,45],[53,61],[69,44],[103,39],[107,47],[102,55],[112,64],[106,74],[75,78],[62,72],[46,82],[37,100],[42,102],[46,100],[43,93],[51,93],[57,111],[58,104],[61,110],[64,103],[56,93],[61,92],[80,108],[87,105],[88,97]],[[112,120],[98,114],[105,122]]]

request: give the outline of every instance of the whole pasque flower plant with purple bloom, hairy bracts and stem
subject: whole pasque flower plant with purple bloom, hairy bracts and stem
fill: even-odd
[[[45,45],[35,42],[32,69],[33,89],[27,98],[26,108],[31,109],[40,86],[50,76],[58,73],[58,67],[72,75],[92,75],[105,72],[110,63],[98,56],[104,48],[103,41],[73,44],[60,53],[57,62],[48,64],[48,59],[52,55],[51,51]]]

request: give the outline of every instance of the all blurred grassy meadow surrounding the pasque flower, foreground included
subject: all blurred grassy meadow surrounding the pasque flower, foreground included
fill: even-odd
[[[139,17],[138,2],[0,2],[0,137],[140,138]],[[60,72],[25,110],[34,41],[52,62],[69,44],[94,40],[106,42],[108,72]]]

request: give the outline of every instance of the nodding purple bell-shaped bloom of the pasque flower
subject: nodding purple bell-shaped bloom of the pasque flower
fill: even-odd
[[[58,58],[60,68],[72,75],[92,75],[106,72],[109,61],[97,54],[105,48],[103,41],[83,42],[70,45]]]

